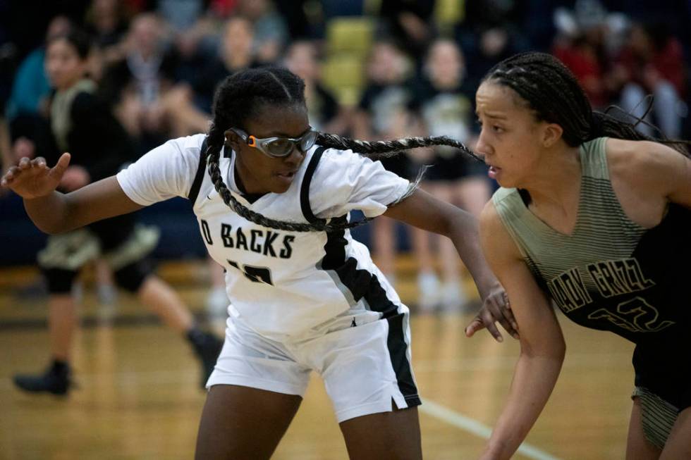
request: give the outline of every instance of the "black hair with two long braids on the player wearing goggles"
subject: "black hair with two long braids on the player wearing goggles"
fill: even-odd
[[[213,121],[207,137],[207,156],[209,175],[224,203],[243,218],[264,227],[288,230],[292,232],[323,232],[354,228],[371,220],[365,218],[357,222],[320,220],[315,223],[288,222],[274,220],[256,213],[240,203],[223,181],[219,168],[221,149],[226,142],[225,131],[228,128],[243,128],[245,122],[258,116],[259,111],[271,106],[305,106],[305,82],[285,68],[264,67],[241,70],[221,82],[214,96]],[[476,156],[464,144],[449,137],[408,137],[398,140],[361,141],[348,139],[333,134],[319,132],[317,144],[335,149],[350,149],[369,158],[384,158],[400,154],[405,149],[447,145],[465,152],[478,161]],[[230,147],[226,147],[230,148]]]

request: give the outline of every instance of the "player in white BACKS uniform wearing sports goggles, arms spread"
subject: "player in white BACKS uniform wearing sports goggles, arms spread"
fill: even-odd
[[[324,378],[351,458],[420,459],[408,308],[350,237],[358,223],[349,212],[385,214],[451,238],[484,300],[484,324],[497,340],[494,321],[516,333],[475,219],[364,156],[437,143],[465,149],[448,138],[362,142],[317,133],[302,80],[260,68],[221,83],[208,136],[166,142],[71,194],[54,192],[68,154],[54,168],[25,159],[2,184],[24,197],[46,232],[171,197],[192,201],[209,253],[226,268],[231,300],[197,459],[269,458],[311,371]]]

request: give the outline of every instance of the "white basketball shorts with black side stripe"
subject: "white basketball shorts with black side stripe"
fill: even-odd
[[[228,321],[207,388],[241,385],[302,397],[310,372],[316,371],[324,379],[338,423],[389,412],[392,401],[398,409],[420,405],[410,365],[408,311],[381,319],[372,313],[360,311],[341,328],[295,342],[269,340]]]

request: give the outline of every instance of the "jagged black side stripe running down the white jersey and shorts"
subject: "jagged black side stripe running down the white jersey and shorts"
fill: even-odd
[[[336,223],[345,223],[347,216],[334,218]],[[324,259],[319,264],[322,270],[334,271],[343,285],[353,294],[353,299],[358,302],[365,299],[372,311],[378,311],[382,319],[389,322],[389,336],[386,345],[389,348],[391,366],[396,373],[398,389],[403,394],[408,407],[419,406],[420,396],[412,377],[410,361],[408,361],[408,343],[405,342],[404,323],[405,314],[398,311],[398,306],[386,297],[386,290],[381,286],[377,275],[367,270],[357,268],[357,260],[347,257],[345,247],[348,240],[345,239],[345,230],[326,233],[324,244]],[[401,408],[399,408],[401,409]]]

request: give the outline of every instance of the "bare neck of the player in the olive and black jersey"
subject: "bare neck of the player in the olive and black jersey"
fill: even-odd
[[[538,168],[532,171],[520,189],[530,193],[533,204],[565,204],[580,189],[580,150],[565,147],[544,154]]]

